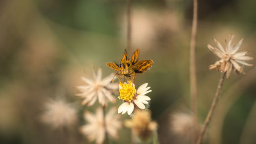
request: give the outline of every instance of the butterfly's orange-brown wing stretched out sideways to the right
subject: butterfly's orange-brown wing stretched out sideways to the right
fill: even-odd
[[[133,70],[135,73],[144,73],[146,70],[152,67],[153,63],[153,60],[139,60],[134,64]]]

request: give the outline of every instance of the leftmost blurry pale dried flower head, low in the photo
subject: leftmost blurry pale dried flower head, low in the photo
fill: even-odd
[[[45,106],[41,120],[53,128],[71,127],[77,122],[76,109],[64,100],[51,100]]]

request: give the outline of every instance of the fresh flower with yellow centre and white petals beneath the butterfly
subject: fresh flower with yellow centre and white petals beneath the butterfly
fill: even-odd
[[[145,94],[152,92],[149,90],[150,87],[147,87],[147,83],[141,85],[138,90],[135,89],[135,85],[128,81],[128,83],[120,83],[119,85],[119,99],[122,99],[124,102],[118,108],[118,113],[126,113],[132,114],[134,110],[134,105],[136,105],[140,109],[145,109],[144,104],[148,104],[148,101],[151,100],[150,97]]]

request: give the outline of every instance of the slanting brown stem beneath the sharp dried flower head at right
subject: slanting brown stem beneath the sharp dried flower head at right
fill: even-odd
[[[214,110],[215,110],[215,107],[216,107],[216,104],[218,102],[218,99],[219,99],[219,96],[220,96],[220,92],[221,92],[221,88],[222,88],[222,85],[223,85],[223,82],[225,80],[225,76],[226,76],[226,72],[223,73],[221,79],[220,79],[220,82],[219,82],[219,85],[217,87],[217,91],[216,91],[216,94],[215,94],[215,97],[214,97],[214,100],[212,101],[212,104],[211,104],[211,107],[210,107],[210,110],[207,114],[207,117],[204,121],[204,126],[203,126],[203,129],[197,139],[197,144],[200,144],[202,142],[202,139],[203,139],[203,136],[204,136],[204,133],[205,133],[205,130],[209,124],[209,121],[210,121],[210,118],[212,116],[212,114],[214,113]]]

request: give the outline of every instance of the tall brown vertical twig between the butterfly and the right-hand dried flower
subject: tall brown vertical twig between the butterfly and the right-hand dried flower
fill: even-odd
[[[190,96],[191,109],[197,115],[197,75],[196,75],[196,34],[197,34],[197,0],[193,4],[193,22],[190,40]]]

